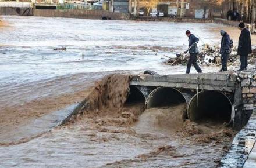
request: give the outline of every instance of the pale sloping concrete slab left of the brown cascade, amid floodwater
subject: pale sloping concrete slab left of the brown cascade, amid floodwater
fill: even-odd
[[[48,132],[52,128],[61,125],[75,111],[77,105],[73,104],[59,111],[51,112],[50,114],[41,116],[38,119],[32,120],[30,123],[12,130],[1,136],[1,144],[16,143],[26,138],[36,137],[42,133]]]

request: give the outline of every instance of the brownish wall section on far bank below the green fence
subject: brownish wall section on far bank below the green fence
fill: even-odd
[[[82,19],[113,19],[113,20],[124,20],[125,14],[113,13],[105,10],[76,10],[76,9],[34,9],[34,16],[43,17],[72,17]]]

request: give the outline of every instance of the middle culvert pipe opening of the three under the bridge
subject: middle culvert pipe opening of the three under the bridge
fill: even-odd
[[[179,90],[171,87],[159,87],[150,93],[145,108],[163,107],[180,103],[186,103],[186,98]]]

